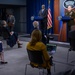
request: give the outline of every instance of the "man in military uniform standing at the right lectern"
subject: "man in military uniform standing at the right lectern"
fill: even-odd
[[[75,26],[75,10],[73,10],[72,6],[69,5],[67,7],[65,15],[71,18],[71,20],[67,23],[68,31],[70,31],[71,27]]]

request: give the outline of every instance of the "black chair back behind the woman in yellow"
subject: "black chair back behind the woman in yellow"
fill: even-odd
[[[27,49],[28,57],[30,62],[36,63],[36,64],[43,64],[43,54],[42,51],[31,51]]]

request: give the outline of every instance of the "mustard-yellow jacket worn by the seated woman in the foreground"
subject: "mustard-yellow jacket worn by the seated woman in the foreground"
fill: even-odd
[[[42,67],[47,68],[47,69],[50,68],[50,62],[49,62],[50,57],[47,53],[47,49],[46,49],[45,44],[43,44],[42,42],[37,42],[35,46],[31,46],[30,42],[29,42],[27,44],[27,49],[42,51],[44,59],[45,59],[44,64],[42,64]],[[35,63],[32,63],[32,62],[31,62],[31,64],[33,64],[34,66],[38,66],[38,64],[35,64]]]

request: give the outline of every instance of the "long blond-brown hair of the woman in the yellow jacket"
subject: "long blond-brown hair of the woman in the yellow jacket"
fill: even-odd
[[[42,39],[42,33],[40,30],[35,29],[33,30],[31,34],[31,45],[35,45],[37,42],[41,41]]]

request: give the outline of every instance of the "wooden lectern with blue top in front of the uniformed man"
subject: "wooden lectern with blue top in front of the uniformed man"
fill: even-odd
[[[60,29],[58,40],[61,42],[67,41],[67,22],[70,21],[71,18],[68,16],[62,16],[61,21],[63,22],[63,25]]]

